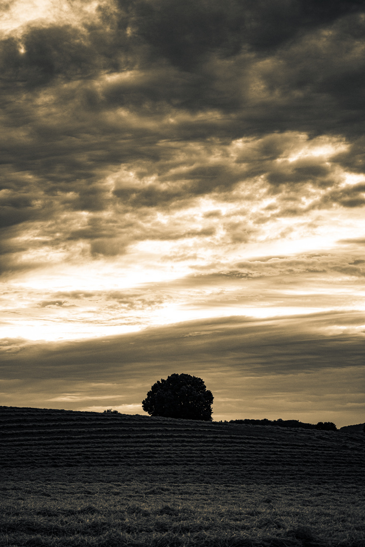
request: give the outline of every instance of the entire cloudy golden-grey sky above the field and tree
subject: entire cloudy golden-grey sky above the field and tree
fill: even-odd
[[[365,2],[0,5],[0,404],[365,421]]]

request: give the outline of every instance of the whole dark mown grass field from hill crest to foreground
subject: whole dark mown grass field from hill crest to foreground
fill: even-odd
[[[364,547],[365,435],[0,407],[0,545]]]

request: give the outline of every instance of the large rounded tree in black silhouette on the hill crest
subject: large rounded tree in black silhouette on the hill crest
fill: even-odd
[[[204,381],[190,374],[171,374],[151,387],[142,408],[150,416],[212,421],[213,395]]]

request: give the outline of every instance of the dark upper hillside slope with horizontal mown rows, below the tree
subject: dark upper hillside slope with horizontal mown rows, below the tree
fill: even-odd
[[[111,467],[158,478],[363,480],[365,435],[246,424],[0,407],[0,466]]]

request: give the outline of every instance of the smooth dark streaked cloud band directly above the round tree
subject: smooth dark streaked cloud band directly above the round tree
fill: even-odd
[[[216,318],[94,341],[44,345],[34,342],[23,347],[21,354],[7,353],[5,344],[3,371],[10,378],[15,374],[15,363],[19,366],[27,363],[25,374],[29,370],[31,376],[41,374],[46,366],[48,377],[64,374],[73,377],[82,373],[85,380],[97,378],[108,382],[112,378],[110,374],[117,374],[118,370],[130,371],[138,363],[145,371],[160,362],[167,367],[171,367],[171,363],[176,366],[195,363],[198,367],[221,364],[253,374],[291,374],[318,368],[362,366],[363,320],[360,312],[256,320]],[[191,333],[203,333],[204,336],[192,336]],[[210,333],[213,337],[208,336]],[[101,380],[99,376],[103,376],[103,370],[108,377]]]

